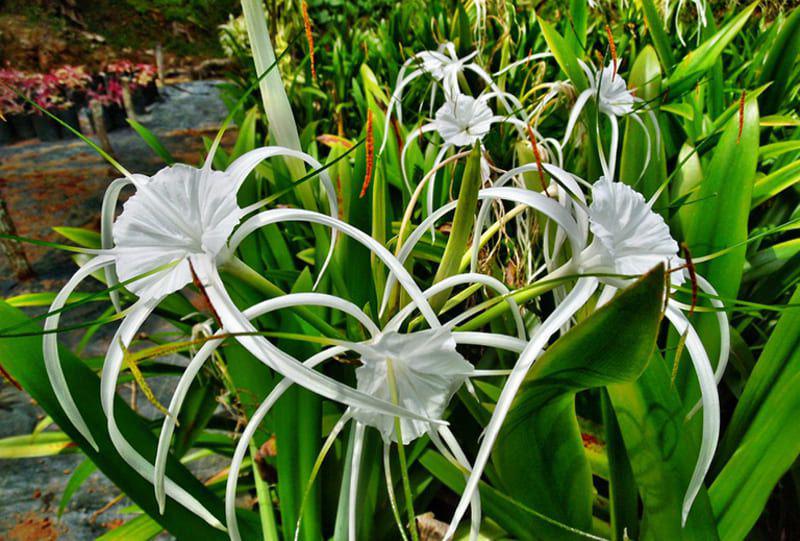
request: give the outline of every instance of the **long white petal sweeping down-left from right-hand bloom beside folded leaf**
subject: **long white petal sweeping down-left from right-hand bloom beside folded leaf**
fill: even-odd
[[[522,382],[525,379],[525,375],[528,373],[531,365],[533,365],[536,358],[547,345],[550,337],[552,337],[562,325],[569,321],[575,312],[577,312],[586,303],[586,301],[589,300],[594,291],[597,289],[597,284],[598,281],[596,278],[581,278],[578,280],[578,282],[575,284],[575,287],[569,293],[569,295],[567,295],[564,301],[559,304],[556,309],[553,310],[552,314],[550,314],[550,316],[542,323],[542,325],[536,329],[531,341],[525,348],[525,351],[522,352],[517,360],[511,375],[508,377],[506,384],[503,386],[503,391],[500,393],[500,398],[497,401],[497,405],[495,406],[492,417],[489,420],[489,424],[484,430],[483,441],[481,442],[480,449],[478,450],[478,456],[475,459],[475,465],[472,469],[469,480],[467,481],[467,485],[464,488],[464,492],[461,494],[461,500],[458,502],[458,506],[456,507],[456,511],[453,515],[453,520],[450,522],[450,527],[444,536],[445,539],[450,539],[455,533],[456,528],[458,528],[458,524],[464,517],[464,513],[467,510],[467,506],[469,505],[473,494],[478,489],[478,483],[481,475],[483,474],[483,470],[486,468],[486,464],[489,461],[489,456],[492,452],[492,448],[494,447],[494,442],[497,440],[497,436],[500,433],[503,421],[505,420],[508,411],[511,409],[511,404],[517,394],[517,391],[519,390],[519,387],[522,385]]]

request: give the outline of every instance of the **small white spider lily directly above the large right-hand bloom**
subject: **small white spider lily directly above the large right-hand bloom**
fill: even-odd
[[[661,131],[658,127],[658,122],[655,118],[655,113],[646,107],[644,100],[637,98],[633,92],[628,88],[628,84],[622,75],[619,74],[616,63],[609,64],[605,67],[600,67],[596,71],[592,70],[586,63],[579,61],[580,66],[589,80],[589,88],[578,94],[575,100],[575,105],[572,107],[569,119],[567,120],[567,129],[564,132],[564,137],[561,140],[562,149],[566,147],[567,142],[572,136],[575,125],[578,122],[581,112],[586,107],[586,103],[594,98],[597,102],[598,110],[604,114],[611,124],[611,141],[608,149],[608,157],[602,145],[598,147],[600,155],[600,165],[603,169],[603,174],[607,178],[614,178],[616,172],[617,152],[619,149],[619,118],[626,117],[633,119],[644,132],[645,143],[647,146],[644,166],[642,167],[641,174],[647,170],[650,160],[652,158],[652,142],[650,140],[650,132],[645,126],[644,121],[641,119],[641,114],[650,115],[653,126],[656,130],[656,148],[661,144]],[[641,112],[640,112],[641,111]],[[599,129],[599,127],[598,127]]]

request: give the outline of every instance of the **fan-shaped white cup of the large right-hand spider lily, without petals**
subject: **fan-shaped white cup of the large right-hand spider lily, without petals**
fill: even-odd
[[[627,184],[601,177],[592,187],[588,215],[595,242],[582,255],[582,268],[636,277],[659,263],[683,265],[664,218]],[[671,273],[673,285],[683,280],[683,271]]]

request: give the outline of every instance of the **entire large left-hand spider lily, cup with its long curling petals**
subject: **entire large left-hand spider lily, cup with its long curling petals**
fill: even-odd
[[[127,288],[138,300],[124,313],[124,319],[109,347],[101,378],[101,398],[108,419],[107,429],[114,446],[122,458],[141,475],[151,478],[153,466],[131,446],[119,430],[114,418],[114,396],[125,350],[133,337],[157,308],[163,298],[180,290],[194,279],[212,281],[209,300],[222,317],[237,321],[238,310],[230,301],[217,275],[217,267],[228,261],[235,247],[227,245],[228,238],[239,221],[258,206],[241,209],[236,193],[250,172],[264,159],[274,156],[298,158],[312,167],[321,165],[305,153],[282,147],[265,147],[243,155],[228,168],[217,172],[210,167],[210,159],[202,169],[175,165],[159,171],[153,177],[130,175],[123,182],[112,183],[111,196],[115,200],[124,183],[136,187],[136,193],[125,204],[122,215],[114,223],[114,246],[104,250],[87,250],[95,258],[87,262],[68,281],[50,307],[53,314],[45,321],[45,329],[56,331],[60,311],[69,295],[92,272],[113,266],[116,274],[126,280]],[[333,185],[324,171],[321,173],[331,211],[336,214],[336,196]],[[113,205],[105,205],[113,208]],[[332,235],[335,240],[335,232]],[[333,242],[331,243],[331,250]],[[327,261],[332,252],[329,252]],[[323,268],[324,271],[324,268]],[[233,326],[235,323],[231,323]],[[248,332],[251,328],[242,332]],[[68,419],[81,435],[97,449],[91,429],[78,410],[64,378],[57,347],[57,333],[50,332],[43,339],[43,353],[48,376],[54,393]],[[260,337],[242,338],[248,347],[265,364],[276,372],[300,382],[304,387],[333,400],[351,406],[374,407],[398,415],[412,415],[402,408],[364,395],[340,382],[307,369],[299,361],[270,349]],[[222,527],[190,494],[170,480],[166,493],[210,524]],[[163,508],[163,503],[162,503]]]

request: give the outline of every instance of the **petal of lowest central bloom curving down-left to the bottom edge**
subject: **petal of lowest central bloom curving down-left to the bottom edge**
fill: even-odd
[[[347,350],[343,347],[332,347],[309,357],[303,364],[311,369],[345,351]],[[283,396],[283,393],[285,393],[292,384],[292,380],[282,379],[275,388],[272,389],[269,395],[267,395],[267,398],[264,399],[253,413],[253,416],[250,417],[247,426],[239,437],[239,442],[236,444],[236,450],[233,452],[230,470],[228,471],[228,481],[225,484],[225,521],[228,524],[228,534],[232,541],[241,541],[239,526],[236,521],[236,488],[239,482],[239,470],[242,467],[242,461],[247,453],[248,445],[250,444],[250,440],[253,439],[256,430],[258,430],[258,427],[269,413],[269,410],[272,409],[275,402]]]

